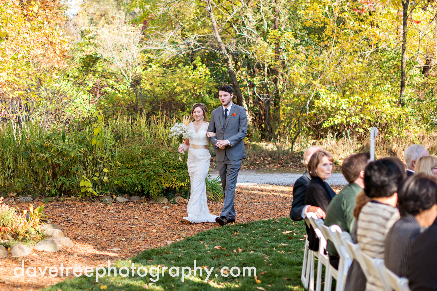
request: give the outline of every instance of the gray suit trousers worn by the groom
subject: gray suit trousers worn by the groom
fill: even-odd
[[[217,162],[217,168],[220,180],[222,180],[223,195],[225,195],[225,202],[220,216],[225,216],[226,219],[235,219],[234,196],[241,160],[229,161],[225,155],[224,161]]]

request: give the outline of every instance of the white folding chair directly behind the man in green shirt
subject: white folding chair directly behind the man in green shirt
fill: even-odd
[[[326,226],[322,225],[321,227],[324,230],[324,234],[326,239],[330,240],[335,246],[337,253],[340,257],[338,263],[338,270],[329,267],[329,272],[327,274],[327,278],[325,279],[325,291],[331,290],[332,278],[336,279],[336,291],[343,291],[344,285],[346,283],[347,270],[350,267],[352,261],[350,260],[349,254],[347,253],[343,243],[340,240],[340,234],[342,230],[338,225]]]

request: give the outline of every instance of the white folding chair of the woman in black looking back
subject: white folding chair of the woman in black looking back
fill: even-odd
[[[310,212],[312,213],[312,212]],[[308,216],[308,215],[307,215]],[[322,230],[319,226],[323,225],[323,220],[318,219],[316,214],[312,213],[308,217],[309,223],[311,224],[316,236],[319,238],[319,251],[313,252],[314,256],[317,257],[317,277],[316,277],[316,289],[314,289],[314,260],[312,260],[312,265],[310,267],[309,276],[309,291],[321,291],[322,289],[322,266],[325,265],[325,281],[327,274],[329,273],[329,257],[325,254],[326,249],[326,236],[324,236]]]

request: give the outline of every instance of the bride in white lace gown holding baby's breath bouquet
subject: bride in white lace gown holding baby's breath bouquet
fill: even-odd
[[[188,125],[193,135],[179,147],[180,153],[188,150],[188,173],[191,180],[191,194],[187,205],[188,216],[182,219],[188,223],[215,223],[217,216],[209,213],[206,203],[206,175],[208,175],[211,155],[208,151],[208,122],[205,122],[208,109],[205,104],[197,103],[191,108],[194,121]]]

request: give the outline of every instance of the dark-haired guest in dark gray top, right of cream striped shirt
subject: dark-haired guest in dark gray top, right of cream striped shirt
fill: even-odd
[[[423,173],[417,174],[418,165],[416,174],[399,190],[401,218],[388,231],[385,239],[385,266],[399,277],[408,275],[414,241],[437,217],[437,180]]]

